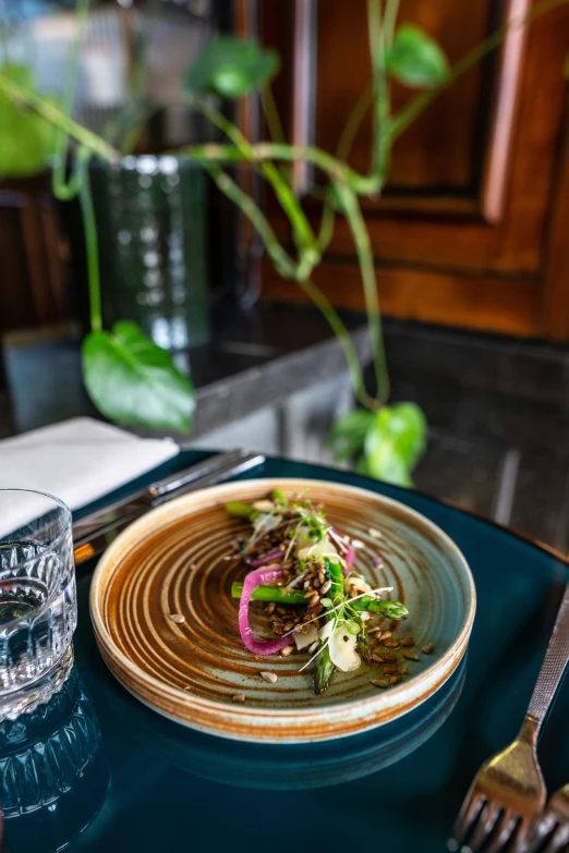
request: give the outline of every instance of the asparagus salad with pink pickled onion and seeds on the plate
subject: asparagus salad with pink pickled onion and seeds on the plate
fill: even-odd
[[[267,657],[302,655],[299,671],[312,667],[315,693],[327,690],[337,670],[351,672],[363,661],[380,668],[371,679],[378,687],[389,687],[409,674],[409,661],[420,659],[414,641],[396,638],[391,624],[409,612],[400,601],[389,599],[391,587],[374,588],[359,571],[356,552],[363,543],[336,529],[324,508],[304,496],[287,499],[274,491],[251,504],[232,501],[227,511],[252,525],[249,537],[233,543],[233,556],[246,573],[231,589],[240,599],[239,630],[249,651]],[[374,560],[382,562],[379,556]],[[264,602],[274,639],[264,641],[253,632],[252,601]],[[390,623],[385,629],[383,620]],[[433,645],[424,645],[422,651],[431,654]],[[277,681],[270,671],[261,674]]]

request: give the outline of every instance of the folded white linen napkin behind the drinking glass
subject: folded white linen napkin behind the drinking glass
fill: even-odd
[[[171,439],[75,417],[0,441],[0,489],[47,491],[76,510],[179,452]]]

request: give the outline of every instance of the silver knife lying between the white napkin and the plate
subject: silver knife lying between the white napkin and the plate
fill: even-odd
[[[73,525],[75,562],[84,562],[101,553],[120,531],[148,510],[180,495],[234,477],[264,461],[262,453],[245,450],[219,453],[81,519]]]

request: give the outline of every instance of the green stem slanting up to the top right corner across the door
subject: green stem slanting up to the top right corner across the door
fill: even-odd
[[[394,117],[390,127],[391,143],[401,136],[403,131],[405,131],[409,125],[412,124],[415,119],[426,110],[429,103],[435,100],[435,98],[438,97],[438,95],[444,92],[444,89],[452,85],[452,83],[455,83],[458,77],[480,62],[480,60],[483,59],[487,53],[491,53],[493,50],[495,50],[495,48],[497,48],[504,41],[508,33],[530,24],[545,12],[549,12],[550,10],[557,9],[561,5],[567,5],[568,2],[569,0],[544,0],[543,3],[537,3],[534,5],[526,15],[523,15],[516,22],[507,23],[499,27],[499,29],[488,36],[488,38],[482,41],[482,44],[477,45],[475,48],[465,53],[462,59],[460,59],[450,70],[447,78],[440,86],[435,89],[422,92],[421,95],[417,95],[415,98],[413,98],[413,100],[410,101],[407,107],[403,107],[398,115]]]

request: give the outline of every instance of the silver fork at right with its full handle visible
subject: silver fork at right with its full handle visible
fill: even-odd
[[[449,840],[449,850],[485,846],[498,853],[516,839],[521,850],[545,805],[546,789],[537,760],[537,736],[569,660],[569,585],[537,675],[518,738],[482,765],[472,782]],[[470,837],[470,838],[469,838]]]

